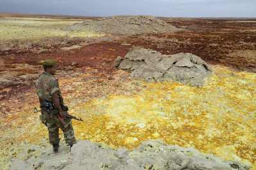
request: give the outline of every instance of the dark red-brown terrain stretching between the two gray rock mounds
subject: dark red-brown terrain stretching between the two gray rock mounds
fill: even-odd
[[[37,16],[36,16],[37,17]],[[90,18],[89,18],[90,19]],[[10,70],[12,64],[41,65],[42,60],[56,59],[61,69],[75,69],[91,66],[99,72],[111,76],[115,70],[113,62],[119,55],[124,57],[131,46],[140,46],[157,50],[163,54],[193,53],[210,64],[223,64],[237,70],[246,70],[255,73],[256,69],[256,22],[250,20],[200,20],[185,18],[170,18],[166,22],[178,28],[180,32],[164,34],[138,34],[120,37],[114,41],[102,41],[83,46],[71,51],[60,50],[60,46],[49,47],[41,53],[29,50],[20,52],[19,49],[0,51],[3,62],[1,72]],[[76,45],[80,41],[68,41],[66,46]],[[38,48],[37,45],[35,48]],[[51,44],[49,45],[51,46]],[[102,63],[104,63],[102,65]],[[0,72],[0,73],[1,73]],[[22,74],[22,71],[19,73]],[[32,78],[31,81],[34,81]],[[32,83],[32,82],[31,82]],[[19,83],[0,84],[1,89],[15,87]],[[12,90],[10,91],[12,92]],[[1,91],[0,100],[12,93]]]

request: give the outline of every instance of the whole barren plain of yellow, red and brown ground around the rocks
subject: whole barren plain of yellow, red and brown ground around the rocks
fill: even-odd
[[[256,20],[163,18],[184,31],[132,36],[61,30],[87,19],[0,17],[0,169],[12,157],[36,157],[28,145],[50,147],[47,128],[33,113],[45,59],[58,60],[65,104],[84,120],[72,121],[77,141],[131,150],[161,139],[256,169]],[[202,88],[131,78],[113,63],[132,46],[193,53],[214,75]]]

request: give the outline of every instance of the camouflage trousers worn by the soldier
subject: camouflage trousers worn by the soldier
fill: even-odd
[[[64,134],[64,139],[68,145],[73,145],[76,143],[76,138],[74,136],[74,129],[72,127],[72,122],[70,118],[64,118],[67,123],[65,126],[61,124],[58,117],[49,117],[49,113],[45,112],[40,115],[40,119],[43,124],[45,124],[49,131],[49,141],[51,144],[59,144],[59,128]]]

